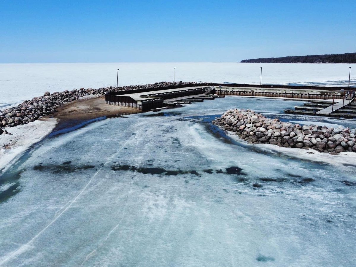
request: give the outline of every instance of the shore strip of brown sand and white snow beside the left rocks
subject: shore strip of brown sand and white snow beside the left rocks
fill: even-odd
[[[11,135],[0,136],[0,174],[11,166],[23,152],[41,141],[57,127],[67,127],[98,117],[115,117],[138,113],[137,109],[108,105],[105,96],[90,95],[64,104],[51,117],[7,128]]]

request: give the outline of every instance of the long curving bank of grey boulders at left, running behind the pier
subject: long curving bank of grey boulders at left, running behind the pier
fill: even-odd
[[[176,82],[176,85],[181,84],[194,84],[187,82]],[[130,85],[124,87],[106,87],[98,89],[84,89],[79,90],[73,89],[72,91],[65,90],[63,92],[54,92],[50,94],[48,91],[41,97],[35,97],[31,100],[26,100],[22,104],[0,111],[0,135],[6,134],[7,131],[2,130],[5,127],[14,127],[20,124],[27,124],[37,120],[42,116],[48,116],[53,114],[56,109],[64,103],[76,100],[82,96],[96,95],[96,94],[106,94],[110,91],[127,91],[135,89],[146,89],[146,88],[156,88],[174,85],[173,82],[159,82],[153,84],[144,85]]]

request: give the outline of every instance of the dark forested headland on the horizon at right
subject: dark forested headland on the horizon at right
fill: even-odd
[[[244,59],[242,63],[356,63],[356,52],[346,54]]]

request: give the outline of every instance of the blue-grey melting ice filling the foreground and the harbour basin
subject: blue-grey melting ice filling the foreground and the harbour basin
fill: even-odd
[[[0,176],[0,265],[355,266],[355,167],[210,124],[230,108],[314,121],[283,114],[302,103],[227,97],[45,138]]]

